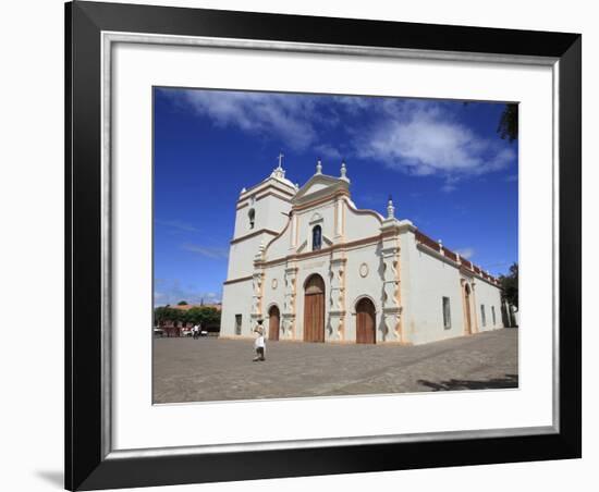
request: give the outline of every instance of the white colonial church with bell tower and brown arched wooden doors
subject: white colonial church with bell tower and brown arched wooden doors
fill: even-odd
[[[498,279],[409,220],[358,209],[345,163],[300,187],[279,165],[244,188],[220,336],[415,345],[503,328]]]

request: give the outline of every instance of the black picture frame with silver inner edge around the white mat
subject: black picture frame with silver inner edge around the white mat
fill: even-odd
[[[115,3],[65,5],[65,488],[167,485],[582,455],[582,39],[577,34]],[[103,30],[548,57],[559,63],[559,425],[555,432],[112,458],[102,445]],[[265,466],[268,464],[268,466]]]

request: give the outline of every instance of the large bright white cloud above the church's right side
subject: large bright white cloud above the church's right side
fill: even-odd
[[[452,179],[498,171],[516,159],[512,148],[478,136],[440,104],[389,100],[383,110],[389,118],[358,138],[363,158],[415,175]],[[444,190],[454,188],[455,182],[445,183]]]

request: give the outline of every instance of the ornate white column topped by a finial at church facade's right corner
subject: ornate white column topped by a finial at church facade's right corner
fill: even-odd
[[[389,197],[387,219],[382,222],[382,319],[386,342],[402,342],[400,305],[400,222],[394,216],[395,208]]]

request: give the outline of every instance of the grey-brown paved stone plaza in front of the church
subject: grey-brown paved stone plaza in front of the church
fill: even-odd
[[[155,403],[517,388],[517,330],[417,346],[155,339]]]

